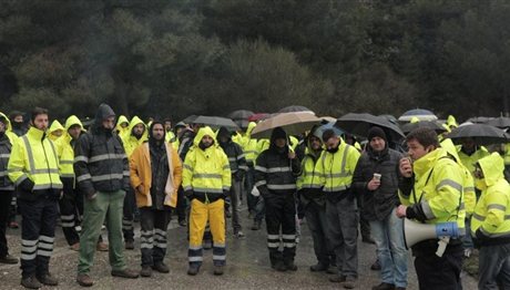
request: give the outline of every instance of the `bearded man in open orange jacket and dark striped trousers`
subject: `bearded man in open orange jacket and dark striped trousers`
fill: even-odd
[[[135,188],[141,215],[142,277],[151,277],[152,269],[163,273],[170,271],[163,262],[166,228],[182,179],[181,159],[165,142],[163,123],[154,121],[149,133],[149,142],[134,149],[130,158],[131,185]]]

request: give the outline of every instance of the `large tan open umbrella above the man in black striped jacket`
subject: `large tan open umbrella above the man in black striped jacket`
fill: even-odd
[[[252,132],[252,137],[269,138],[275,127],[284,128],[288,135],[298,135],[318,124],[320,118],[308,112],[282,113],[258,123]]]

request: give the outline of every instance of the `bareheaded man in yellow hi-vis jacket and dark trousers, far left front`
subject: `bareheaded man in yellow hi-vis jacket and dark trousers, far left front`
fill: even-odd
[[[41,283],[57,286],[50,273],[57,226],[58,200],[62,193],[59,159],[53,142],[47,138],[48,111],[32,111],[32,127],[12,146],[8,164],[17,186],[21,216],[21,284],[39,289]]]

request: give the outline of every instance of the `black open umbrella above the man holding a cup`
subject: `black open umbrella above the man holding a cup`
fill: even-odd
[[[374,116],[367,113],[348,113],[337,120],[336,126],[361,137],[367,137],[370,127],[379,126],[385,131],[390,141],[398,142],[404,138],[402,131],[396,124],[386,117]]]

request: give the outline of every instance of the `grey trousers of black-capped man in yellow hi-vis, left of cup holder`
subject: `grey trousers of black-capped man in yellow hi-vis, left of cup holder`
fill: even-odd
[[[338,275],[358,277],[358,213],[354,198],[326,200],[327,239],[336,255]]]

